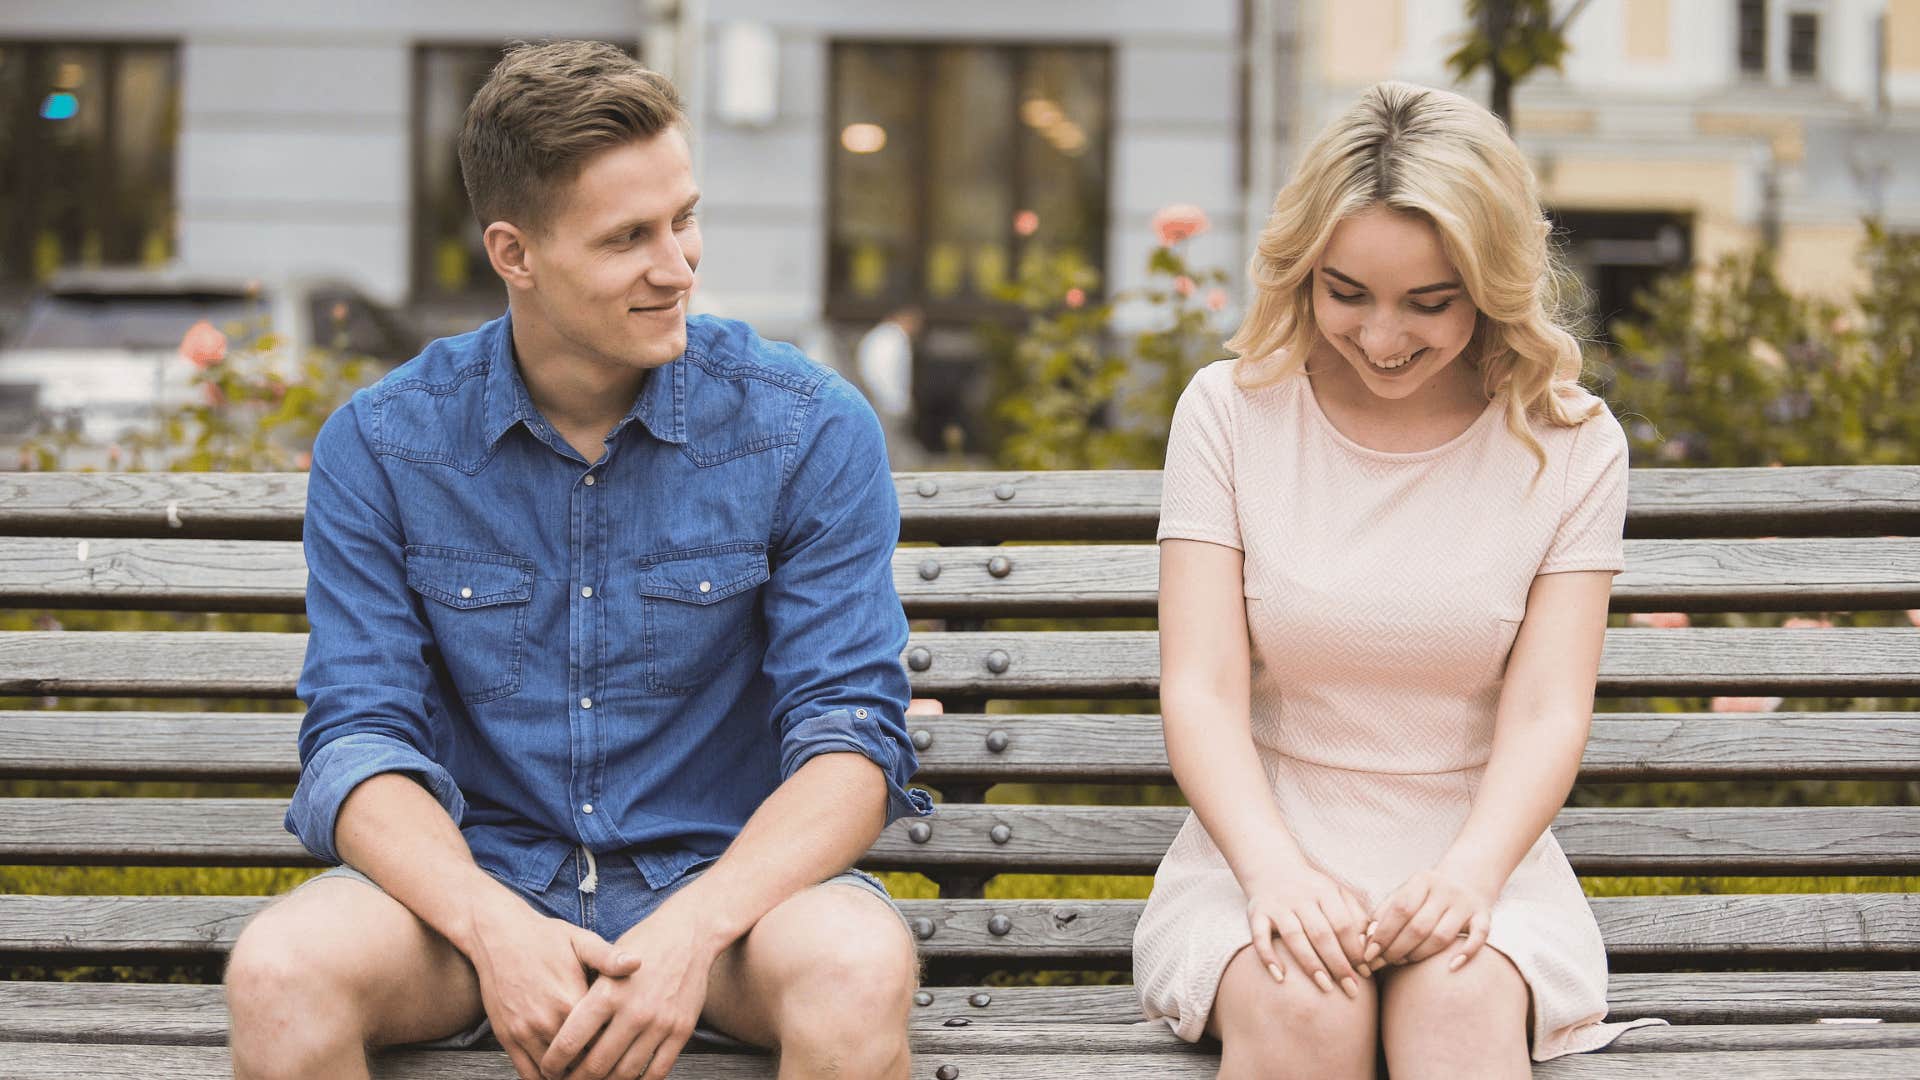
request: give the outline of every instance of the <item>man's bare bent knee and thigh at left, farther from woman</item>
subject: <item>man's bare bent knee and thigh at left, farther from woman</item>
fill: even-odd
[[[236,1080],[361,1080],[367,1049],[480,1022],[480,982],[445,938],[365,882],[313,882],[261,911],[227,963]]]

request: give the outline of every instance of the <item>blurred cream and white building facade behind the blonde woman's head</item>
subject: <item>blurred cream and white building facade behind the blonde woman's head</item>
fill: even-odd
[[[1304,129],[1379,79],[1450,85],[1457,0],[1311,13]],[[1920,2],[1590,0],[1567,37],[1565,73],[1517,88],[1513,127],[1601,319],[1761,242],[1788,284],[1843,294],[1862,217],[1920,229]]]

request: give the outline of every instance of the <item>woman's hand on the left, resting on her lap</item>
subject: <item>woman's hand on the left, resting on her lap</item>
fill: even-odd
[[[1254,953],[1275,982],[1300,972],[1325,994],[1338,986],[1348,997],[1357,997],[1356,976],[1371,974],[1361,963],[1365,920],[1359,897],[1311,867],[1275,872],[1248,888],[1246,924],[1254,932]]]

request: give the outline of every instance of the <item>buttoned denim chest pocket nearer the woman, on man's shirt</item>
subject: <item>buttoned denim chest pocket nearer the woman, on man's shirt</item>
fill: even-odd
[[[691,694],[753,640],[766,544],[647,555],[636,571],[649,690]]]

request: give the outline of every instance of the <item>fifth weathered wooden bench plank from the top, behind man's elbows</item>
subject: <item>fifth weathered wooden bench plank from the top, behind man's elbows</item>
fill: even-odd
[[[282,799],[0,799],[0,865],[317,865]],[[1183,807],[947,803],[893,822],[874,871],[1150,874]],[[1584,874],[1889,874],[1920,851],[1920,807],[1571,807],[1553,822]],[[916,840],[918,838],[918,840]]]

